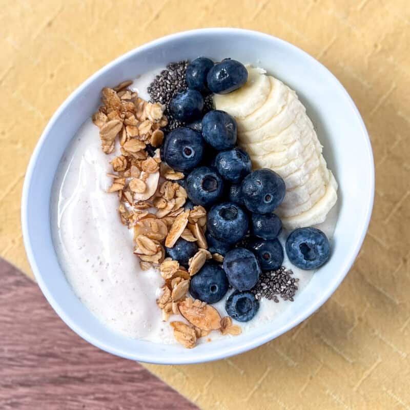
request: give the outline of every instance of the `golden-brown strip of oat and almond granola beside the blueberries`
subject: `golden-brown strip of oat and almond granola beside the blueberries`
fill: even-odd
[[[207,211],[201,206],[183,208],[186,190],[175,182],[183,174],[162,163],[159,147],[168,119],[165,107],[139,98],[124,81],[117,87],[102,90],[101,105],[92,119],[99,128],[101,148],[106,154],[115,150],[118,137],[120,155],[110,163],[112,178],[109,193],[117,193],[118,212],[122,224],[134,230],[134,254],[142,270],[159,268],[165,283],[157,300],[163,320],[170,315],[182,315],[187,321],[173,321],[175,339],[185,347],[194,347],[200,337],[211,330],[238,335],[240,327],[232,325],[229,317],[221,318],[212,306],[187,297],[190,279],[207,259],[222,262],[219,254],[211,255],[204,236]],[[154,147],[151,156],[147,146]],[[150,147],[150,148],[151,148]],[[196,242],[198,252],[189,260],[188,270],[178,261],[165,258],[165,247],[172,248],[179,238]]]

